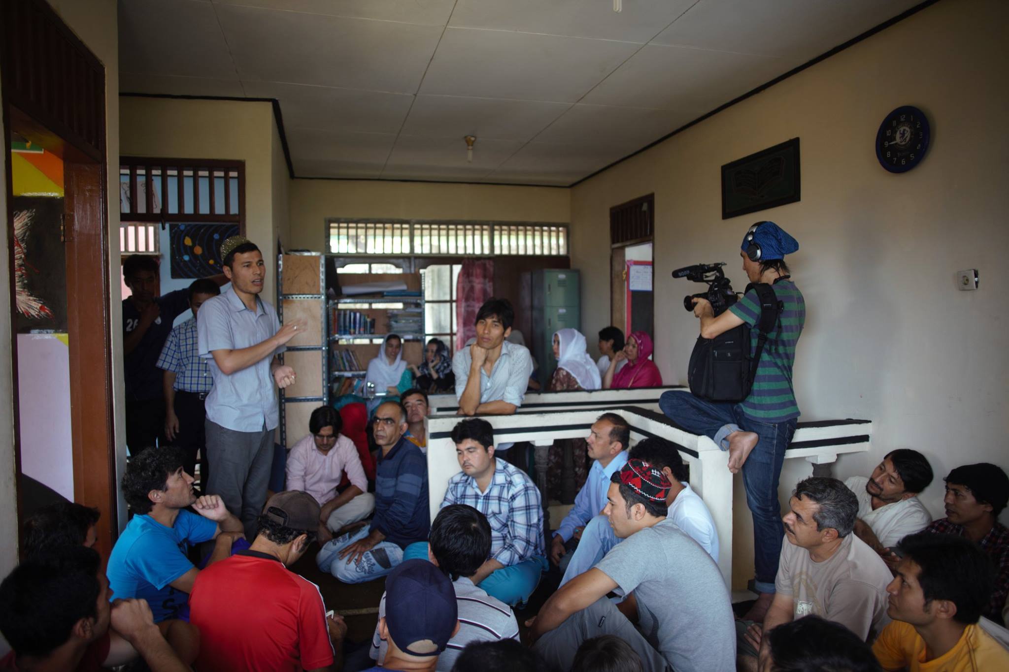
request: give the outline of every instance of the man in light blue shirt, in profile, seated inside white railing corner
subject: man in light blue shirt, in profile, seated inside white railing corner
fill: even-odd
[[[585,485],[574,498],[574,508],[561,521],[550,544],[550,560],[561,573],[567,569],[585,525],[602,512],[609,491],[609,477],[628,460],[631,426],[615,413],[600,415],[589,431],[588,456],[594,459]]]

